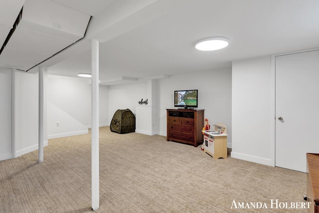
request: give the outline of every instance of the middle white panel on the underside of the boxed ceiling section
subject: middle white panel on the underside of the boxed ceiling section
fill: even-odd
[[[17,27],[6,47],[52,56],[72,43],[70,40]]]

